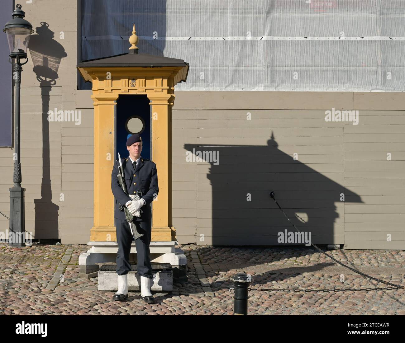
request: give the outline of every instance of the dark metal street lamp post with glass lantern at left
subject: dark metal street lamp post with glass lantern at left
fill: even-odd
[[[32,25],[23,19],[25,12],[21,5],[17,4],[11,13],[13,19],[6,23],[4,32],[10,48],[9,62],[13,64],[13,79],[15,82],[15,136],[14,136],[14,186],[10,191],[10,231],[9,245],[15,247],[23,246],[23,235],[25,232],[24,219],[24,191],[21,187],[21,164],[20,164],[20,85],[22,66],[28,62],[27,48],[30,34],[34,32]],[[26,59],[21,63],[21,59]],[[15,60],[15,61],[14,61]]]

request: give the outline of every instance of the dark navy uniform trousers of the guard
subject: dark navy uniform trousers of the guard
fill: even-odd
[[[129,223],[126,220],[115,219],[115,232],[117,234],[118,252],[117,252],[117,274],[125,275],[131,270],[129,262],[129,254],[131,243],[134,240],[131,235]],[[152,228],[150,222],[137,221],[134,222],[139,233],[143,236],[135,240],[137,272],[138,275],[145,276],[149,279],[153,278],[151,260],[149,257],[149,244],[151,242]]]

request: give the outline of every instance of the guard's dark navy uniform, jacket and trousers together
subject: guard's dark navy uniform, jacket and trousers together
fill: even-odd
[[[143,236],[135,240],[136,255],[138,258],[137,272],[138,275],[143,275],[149,279],[152,279],[152,267],[149,257],[149,244],[151,241],[151,202],[156,198],[159,192],[158,187],[158,172],[156,170],[156,164],[149,160],[144,159],[141,156],[139,163],[134,169],[132,162],[129,158],[121,159],[124,167],[125,183],[127,186],[128,194],[135,195],[136,191],[142,192],[142,199],[145,199],[146,203],[141,207],[141,217],[134,216],[134,223],[139,233]],[[113,171],[111,173],[111,191],[117,203],[115,205],[114,218],[115,227],[117,233],[117,274],[125,275],[131,270],[131,264],[129,262],[129,254],[131,249],[131,243],[133,241],[130,227],[125,218],[125,212],[119,210],[118,202],[125,207],[125,204],[131,200],[131,198],[124,193],[119,185],[117,174],[119,161],[114,162]]]

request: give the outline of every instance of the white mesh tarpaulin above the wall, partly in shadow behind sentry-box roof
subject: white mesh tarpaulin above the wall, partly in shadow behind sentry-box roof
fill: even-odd
[[[176,90],[404,91],[405,0],[82,0],[82,60],[190,64]]]

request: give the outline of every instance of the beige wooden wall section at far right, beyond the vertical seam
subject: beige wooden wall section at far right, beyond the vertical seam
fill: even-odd
[[[345,248],[405,248],[405,102],[401,93],[355,93],[358,125],[344,126]],[[390,154],[390,155],[389,155]]]

